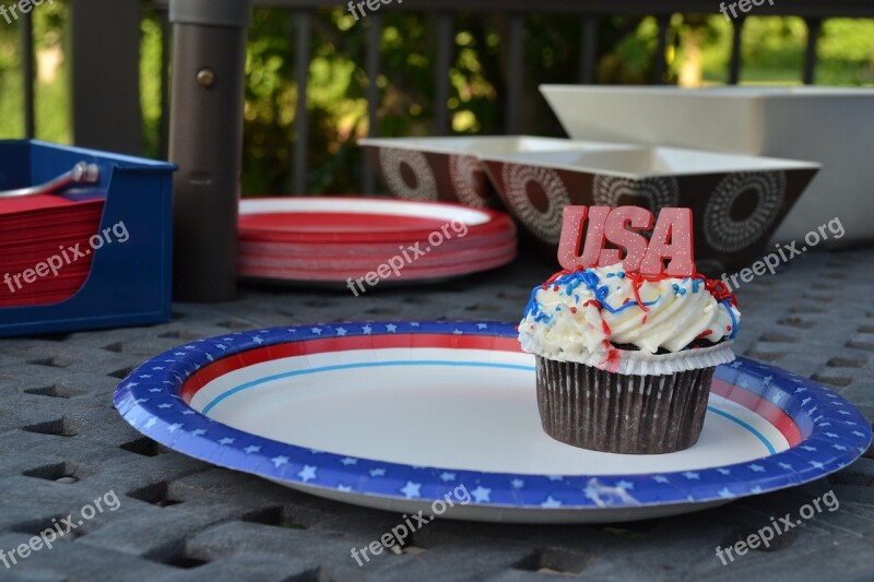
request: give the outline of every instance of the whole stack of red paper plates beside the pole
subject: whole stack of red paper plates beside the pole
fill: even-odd
[[[244,200],[239,241],[244,277],[353,283],[358,292],[495,269],[517,247],[504,213],[375,198]]]

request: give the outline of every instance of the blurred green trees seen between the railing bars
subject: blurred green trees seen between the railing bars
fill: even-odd
[[[37,136],[69,143],[69,67],[66,3],[33,12],[38,66]],[[426,135],[435,107],[434,17],[383,11],[381,104],[376,133]],[[458,14],[448,103],[457,134],[501,133],[501,95],[508,75],[501,43],[506,17]],[[668,78],[683,86],[725,82],[731,26],[721,15],[675,14],[671,20]],[[19,26],[0,26],[0,138],[20,138],[22,80]],[[578,19],[532,15],[525,25],[525,62],[520,128],[524,133],[564,135],[538,92],[542,83],[575,83],[579,71]],[[295,139],[295,19],[287,10],[257,9],[249,34],[245,114],[244,193],[281,194],[291,188],[291,145]],[[368,130],[364,70],[366,20],[344,9],[319,14],[309,67],[309,191],[357,192],[362,153],[356,141]],[[744,84],[801,83],[806,25],[796,17],[749,17],[744,25]],[[658,27],[652,17],[604,19],[599,29],[599,83],[646,84],[653,74]],[[146,10],[142,21],[143,152],[160,155],[161,22]],[[819,40],[817,84],[874,85],[874,21],[827,20]],[[111,80],[107,80],[111,82]],[[99,87],[94,87],[99,91]]]

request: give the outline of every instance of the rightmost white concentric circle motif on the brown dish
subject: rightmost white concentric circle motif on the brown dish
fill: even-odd
[[[731,216],[731,209],[744,192],[758,195],[756,207],[743,221]],[[761,238],[780,214],[786,198],[786,173],[757,171],[730,174],[717,186],[704,212],[704,236],[722,252],[735,252]]]

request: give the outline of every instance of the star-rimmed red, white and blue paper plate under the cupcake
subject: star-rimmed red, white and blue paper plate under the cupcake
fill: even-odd
[[[513,326],[492,322],[200,340],[132,371],[115,403],[144,435],[220,466],[349,503],[496,522],[695,511],[820,478],[871,442],[869,423],[838,394],[740,358],[717,369],[695,447],[568,447],[541,429],[533,357]]]

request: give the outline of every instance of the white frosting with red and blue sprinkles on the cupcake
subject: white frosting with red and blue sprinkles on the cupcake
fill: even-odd
[[[716,344],[733,338],[740,320],[736,307],[718,301],[699,278],[643,281],[635,294],[619,263],[535,288],[519,341],[525,352],[550,359],[606,361],[621,344],[649,354],[681,352],[696,340]]]

